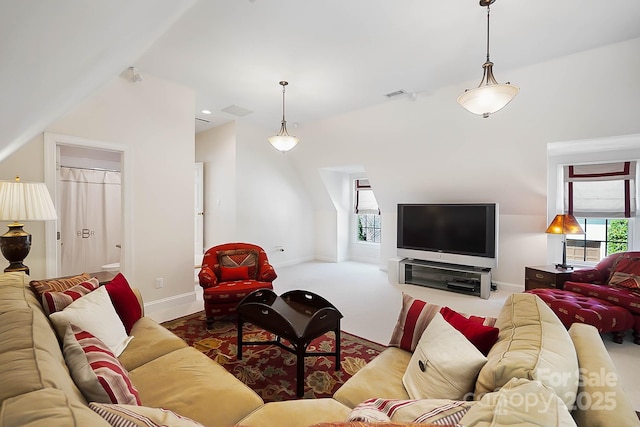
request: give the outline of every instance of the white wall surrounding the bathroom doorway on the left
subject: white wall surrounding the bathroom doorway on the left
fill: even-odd
[[[133,191],[133,206],[125,227],[133,234],[133,247],[123,248],[132,260],[123,273],[147,303],[193,296],[193,104],[190,89],[151,75],[137,84],[114,78],[47,128],[128,148],[132,173],[124,177],[124,186]],[[43,156],[38,136],[0,164],[0,178],[21,173],[43,181]],[[33,234],[27,265],[32,277],[43,278],[45,242]],[[155,288],[155,278],[164,279],[162,289]]]

